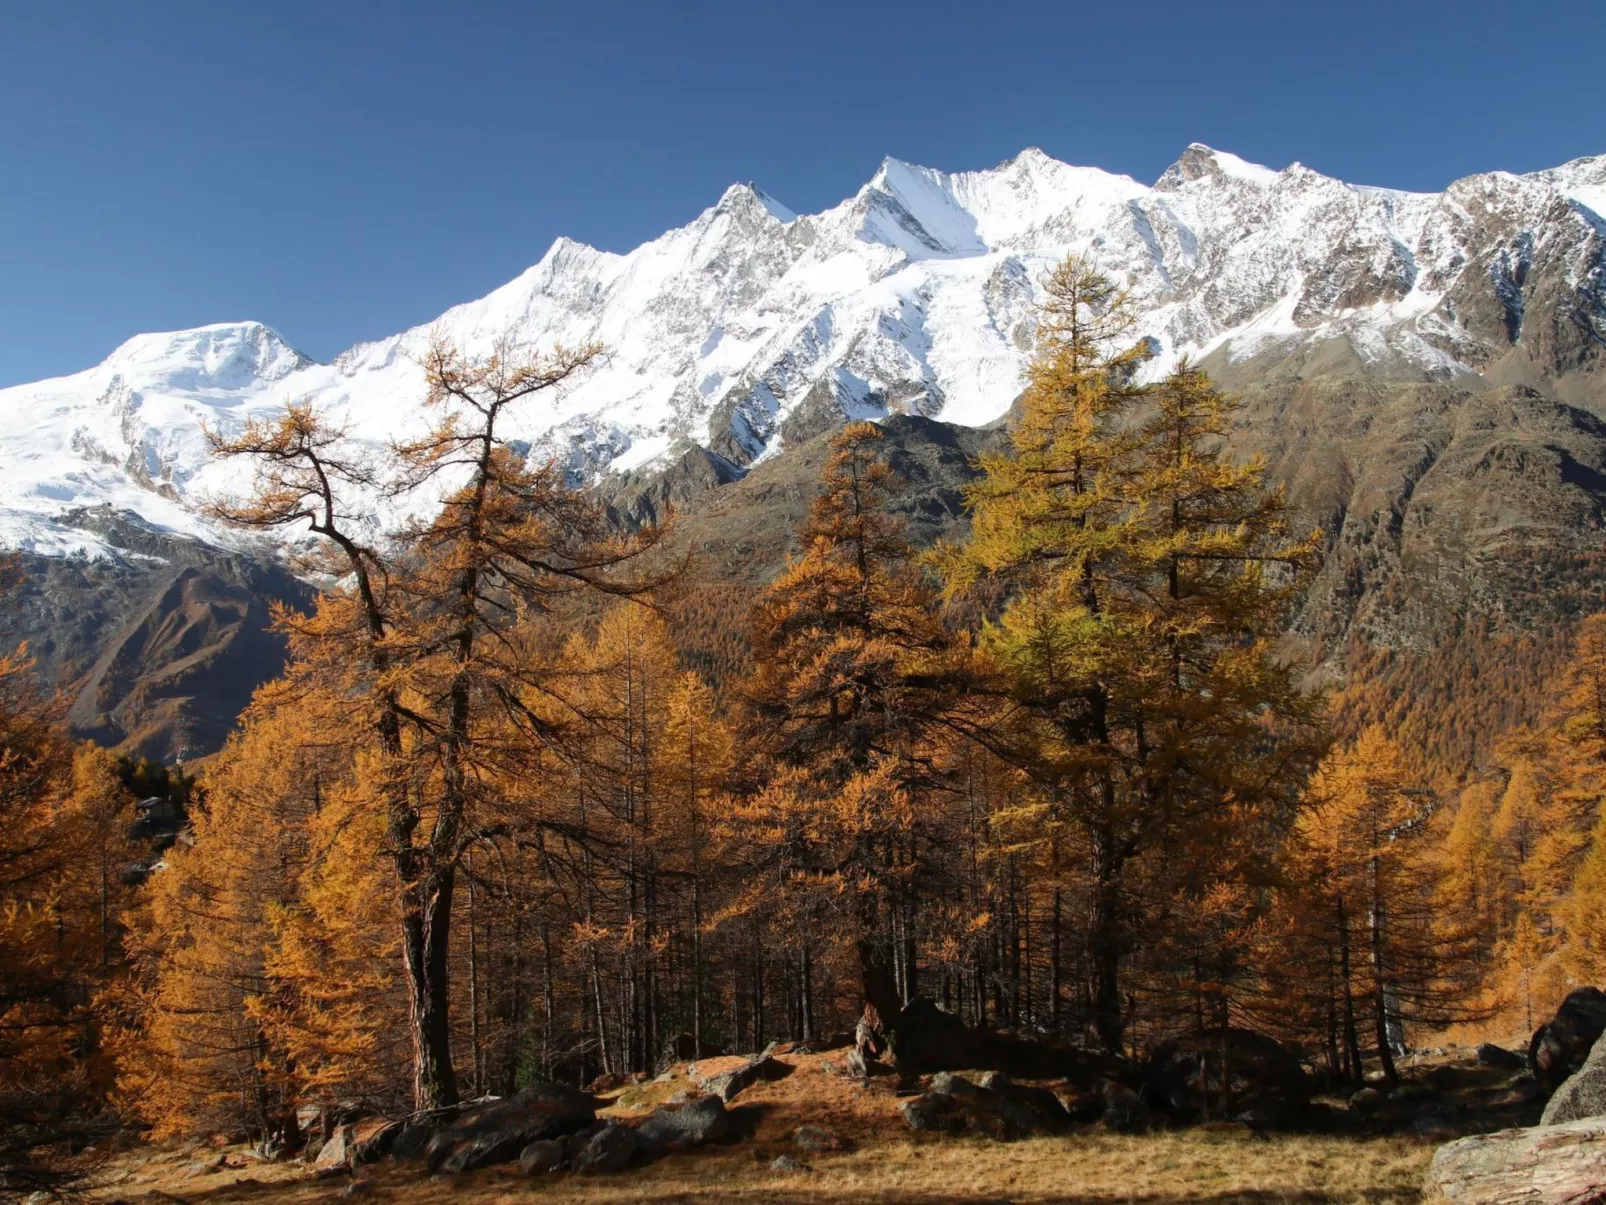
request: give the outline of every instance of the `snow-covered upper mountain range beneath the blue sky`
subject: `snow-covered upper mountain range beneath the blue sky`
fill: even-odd
[[[736,185],[625,255],[559,239],[490,296],[328,365],[230,323],[0,390],[0,545],[98,551],[74,513],[101,504],[220,540],[196,506],[239,471],[209,458],[202,424],[312,398],[360,439],[414,429],[432,329],[469,353],[602,342],[605,362],[514,432],[581,476],[694,443],[745,468],[842,418],[984,424],[1020,390],[1037,280],[1068,251],[1131,284],[1153,373],[1339,347],[1368,374],[1539,379],[1606,408],[1606,156],[1439,194],[1200,145],[1153,186],[1037,149],[983,172],[888,159],[822,214]]]

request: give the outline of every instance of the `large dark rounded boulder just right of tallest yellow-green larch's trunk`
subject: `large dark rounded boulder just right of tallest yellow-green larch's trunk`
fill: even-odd
[[[1310,1104],[1310,1080],[1282,1043],[1217,1027],[1161,1043],[1143,1065],[1143,1096],[1176,1121],[1245,1109],[1296,1117]]]

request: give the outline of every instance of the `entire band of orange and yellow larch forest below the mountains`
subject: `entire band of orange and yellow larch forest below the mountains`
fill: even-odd
[[[1090,263],[1046,281],[967,538],[909,546],[853,423],[742,615],[504,439],[599,355],[440,342],[437,426],[379,461],[300,405],[214,437],[254,476],[218,517],[310,529],[328,588],[193,789],[74,747],[0,660],[18,1133],[271,1138],[320,1101],[896,1049],[915,1001],[1118,1052],[1238,1027],[1357,1083],[1606,980],[1606,617],[1490,766],[1445,768],[1471,704],[1402,733],[1375,688],[1306,689],[1280,636],[1322,533],[1203,373],[1140,384]],[[426,519],[361,509],[432,485]],[[684,644],[710,609],[739,673]],[[130,805],[164,790],[188,824],[149,864]]]

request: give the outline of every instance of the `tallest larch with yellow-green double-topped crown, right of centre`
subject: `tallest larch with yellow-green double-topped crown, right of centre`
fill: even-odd
[[[943,564],[951,594],[1007,594],[984,647],[1010,757],[1046,795],[1050,861],[1086,884],[1090,1028],[1119,1049],[1121,967],[1160,906],[1139,860],[1227,871],[1222,834],[1286,813],[1310,763],[1314,705],[1272,639],[1315,540],[1288,537],[1264,464],[1227,453],[1233,403],[1208,378],[1134,384],[1121,289],[1071,257],[1044,292],[1010,450],[983,458],[972,538]]]

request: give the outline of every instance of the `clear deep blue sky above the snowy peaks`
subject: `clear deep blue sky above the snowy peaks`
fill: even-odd
[[[814,210],[887,154],[1548,167],[1606,153],[1601,47],[1606,0],[0,0],[0,384],[239,318],[328,358],[557,235],[625,251],[736,180]]]

